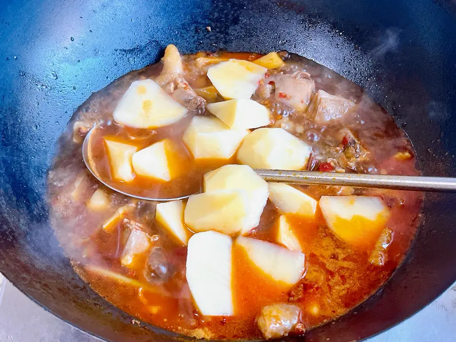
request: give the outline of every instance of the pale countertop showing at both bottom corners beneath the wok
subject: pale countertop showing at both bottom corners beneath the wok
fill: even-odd
[[[8,281],[0,300],[1,342],[100,341],[45,311]],[[367,341],[456,341],[456,283],[419,313]]]

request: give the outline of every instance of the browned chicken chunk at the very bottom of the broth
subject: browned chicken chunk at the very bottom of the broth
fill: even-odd
[[[278,303],[262,308],[257,323],[264,338],[279,338],[289,334],[305,333],[306,327],[301,320],[299,307]]]

